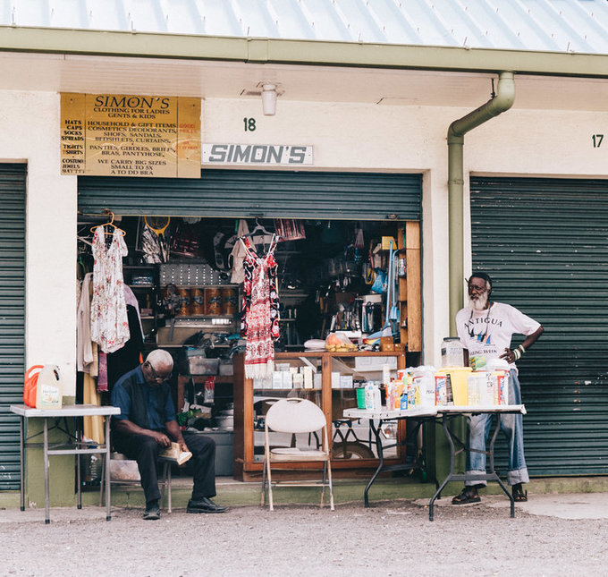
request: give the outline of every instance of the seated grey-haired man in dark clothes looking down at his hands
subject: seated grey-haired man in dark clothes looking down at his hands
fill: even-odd
[[[192,498],[188,513],[224,513],[216,505],[215,441],[210,437],[188,434],[188,445],[175,420],[171,387],[167,379],[173,370],[172,356],[162,350],[152,351],[139,367],[123,375],[112,389],[112,404],[121,414],[112,418],[114,448],[138,463],[141,486],[146,496],[144,519],[160,518],[157,461],[161,449],[179,443],[190,451],[194,471]]]

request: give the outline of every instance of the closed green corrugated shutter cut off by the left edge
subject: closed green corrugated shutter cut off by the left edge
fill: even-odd
[[[25,370],[26,165],[0,164],[0,490],[19,489],[19,417]]]

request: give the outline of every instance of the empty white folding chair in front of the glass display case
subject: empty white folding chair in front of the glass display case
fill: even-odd
[[[299,449],[297,447],[270,448],[269,431],[277,433],[313,433],[323,429],[323,445],[320,449]],[[264,470],[262,472],[261,505],[266,501],[266,476],[268,479],[268,503],[274,511],[273,486],[321,487],[321,506],[324,505],[325,487],[329,487],[330,509],[334,511],[334,489],[332,487],[332,465],[330,462],[329,443],[327,439],[327,421],[321,409],[306,399],[288,398],[274,403],[266,412],[264,426],[265,450]],[[273,481],[271,464],[277,462],[323,462],[323,479],[321,481]]]

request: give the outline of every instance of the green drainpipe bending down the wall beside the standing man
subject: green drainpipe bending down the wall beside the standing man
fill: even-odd
[[[448,129],[448,219],[450,273],[450,335],[456,335],[456,313],[462,308],[464,293],[464,135],[479,124],[509,110],[515,100],[513,72],[500,72],[496,95],[468,115],[455,120]]]

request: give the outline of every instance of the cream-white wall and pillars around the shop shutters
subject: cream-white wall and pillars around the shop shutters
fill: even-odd
[[[27,362],[58,363],[73,395],[77,191],[75,177],[59,174],[59,96],[0,91],[0,111],[0,161],[29,164]],[[258,99],[209,99],[202,133],[206,142],[311,144],[311,170],[422,173],[424,346],[433,363],[449,327],[446,133],[468,112],[280,98],[276,115],[264,116]],[[255,132],[243,130],[245,116],[256,118]],[[603,148],[592,148],[591,134],[602,132]],[[516,99],[465,137],[465,191],[470,173],[608,177],[608,114],[518,110]],[[468,227],[465,239],[469,254]]]

